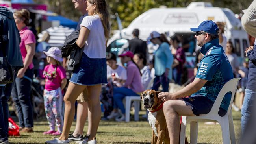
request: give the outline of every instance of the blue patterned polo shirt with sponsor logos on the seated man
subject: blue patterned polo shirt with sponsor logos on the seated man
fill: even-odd
[[[204,44],[200,52],[204,57],[200,61],[196,78],[206,79],[207,82],[192,96],[202,95],[215,102],[223,85],[233,78],[232,68],[223,48],[219,45],[219,39]],[[231,92],[224,96],[221,108],[228,110],[230,99]]]

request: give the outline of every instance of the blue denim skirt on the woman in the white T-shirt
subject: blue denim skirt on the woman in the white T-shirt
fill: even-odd
[[[73,70],[73,75],[70,81],[78,85],[98,85],[108,83],[106,58],[89,58],[83,53],[80,63]]]

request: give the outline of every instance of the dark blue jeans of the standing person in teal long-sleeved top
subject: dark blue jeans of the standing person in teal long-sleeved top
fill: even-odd
[[[161,76],[156,76],[156,78],[154,79],[152,90],[158,91],[160,84],[163,87],[163,92],[169,91],[169,79],[166,76],[164,76],[164,74]]]

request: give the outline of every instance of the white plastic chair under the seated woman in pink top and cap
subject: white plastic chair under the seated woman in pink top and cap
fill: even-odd
[[[151,89],[152,84],[154,82],[154,78],[151,78],[148,83],[147,89]],[[139,104],[141,102],[140,96],[126,96],[125,97],[125,121],[130,122],[130,110],[131,110],[131,102],[134,102],[134,120],[139,120]]]

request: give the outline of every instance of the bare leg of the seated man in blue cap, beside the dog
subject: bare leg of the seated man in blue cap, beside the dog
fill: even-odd
[[[192,116],[191,106],[187,106],[184,100],[168,100],[163,104],[163,113],[165,115],[170,144],[178,144],[180,134],[179,116]]]

